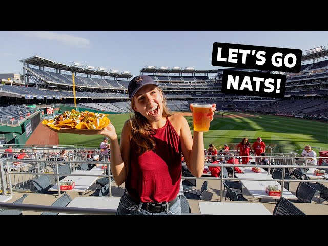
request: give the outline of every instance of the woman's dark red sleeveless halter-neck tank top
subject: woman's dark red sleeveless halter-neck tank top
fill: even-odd
[[[138,143],[131,139],[131,163],[125,187],[129,194],[142,202],[168,202],[180,189],[180,136],[167,118],[162,128],[154,129],[155,150],[138,155]]]

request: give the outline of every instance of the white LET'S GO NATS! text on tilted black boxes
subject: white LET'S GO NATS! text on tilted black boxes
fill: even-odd
[[[302,51],[267,46],[213,43],[212,65],[298,73]],[[284,98],[286,76],[223,70],[222,93]]]

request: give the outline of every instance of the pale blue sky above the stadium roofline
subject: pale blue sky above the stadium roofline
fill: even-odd
[[[328,49],[328,31],[0,31],[0,73],[22,73],[34,55],[71,65],[131,71],[146,65],[212,66],[214,42],[280,48]]]

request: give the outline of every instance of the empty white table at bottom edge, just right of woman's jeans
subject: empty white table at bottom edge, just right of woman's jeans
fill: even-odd
[[[201,214],[212,215],[272,215],[261,203],[199,202]]]

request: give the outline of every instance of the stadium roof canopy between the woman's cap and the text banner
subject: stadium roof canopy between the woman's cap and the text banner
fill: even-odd
[[[194,67],[155,67],[146,66],[140,70],[140,73],[217,73],[217,69],[195,70]]]

